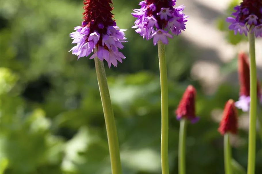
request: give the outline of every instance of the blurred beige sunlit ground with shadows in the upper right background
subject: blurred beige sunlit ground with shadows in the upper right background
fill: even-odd
[[[183,36],[197,45],[201,52],[192,68],[192,77],[202,82],[207,93],[212,93],[221,82],[238,84],[237,73],[221,75],[220,67],[230,62],[242,50],[248,51],[248,43],[233,46],[225,40],[225,33],[216,28],[218,17],[226,13],[230,0],[178,0],[177,5],[185,5],[185,14],[189,16],[186,32]],[[203,50],[203,51],[202,51]],[[258,77],[262,79],[262,40],[256,40],[256,59]]]

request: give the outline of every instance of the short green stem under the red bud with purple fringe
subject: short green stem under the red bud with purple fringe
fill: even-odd
[[[187,121],[182,119],[179,128],[178,144],[178,173],[185,174],[185,140],[186,140]]]

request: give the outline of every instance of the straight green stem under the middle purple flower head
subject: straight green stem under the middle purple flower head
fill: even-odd
[[[161,41],[158,41],[157,46],[161,87],[161,167],[162,174],[169,174],[167,63],[165,45]]]

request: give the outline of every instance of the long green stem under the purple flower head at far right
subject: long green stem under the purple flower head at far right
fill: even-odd
[[[257,68],[255,57],[255,36],[249,32],[250,57],[250,112],[248,132],[248,167],[247,173],[255,173],[256,164],[256,115],[257,115]]]

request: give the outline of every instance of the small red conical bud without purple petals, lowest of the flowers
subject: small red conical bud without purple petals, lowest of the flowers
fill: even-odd
[[[235,107],[234,100],[230,99],[225,104],[222,120],[218,131],[221,135],[227,132],[237,134],[238,132],[238,113]]]

